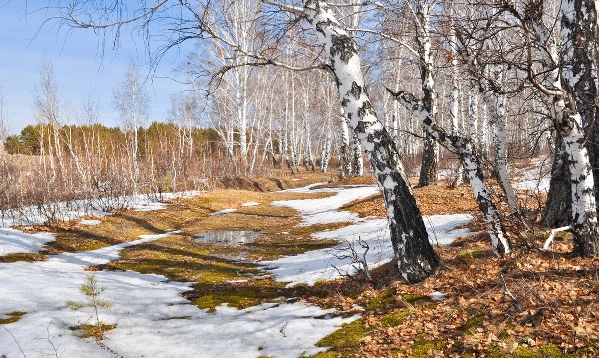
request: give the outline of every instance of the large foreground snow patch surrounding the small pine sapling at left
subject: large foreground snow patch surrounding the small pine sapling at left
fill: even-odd
[[[27,357],[46,357],[50,341],[63,357],[114,357],[94,339],[77,338],[68,329],[77,326],[87,313],[72,312],[66,299],[79,299],[78,289],[90,272],[84,268],[118,257],[123,247],[152,241],[177,232],[144,235],[137,241],[93,251],[59,254],[46,262],[0,263],[0,317],[12,311],[26,312],[5,324]],[[313,317],[332,313],[305,302],[263,304],[247,310],[217,307],[209,314],[190,305],[180,294],[189,283],[166,280],[160,275],[138,272],[94,272],[107,286],[105,299],[114,308],[101,312],[106,323],[117,323],[102,341],[119,356],[126,357],[298,357],[324,348],[314,347],[338,325],[356,319]],[[19,357],[19,347],[7,330],[0,330],[0,356]]]

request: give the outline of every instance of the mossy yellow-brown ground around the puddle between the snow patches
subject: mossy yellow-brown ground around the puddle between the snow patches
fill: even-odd
[[[135,223],[138,229],[152,233],[176,229],[183,230],[183,233],[125,248],[119,260],[93,269],[137,271],[164,275],[174,281],[194,281],[193,290],[184,293],[184,296],[199,308],[212,312],[222,304],[247,308],[265,302],[280,302],[277,298],[297,296],[294,291],[298,290],[298,286],[285,289],[285,285],[273,278],[261,277],[262,272],[254,260],[272,260],[331,247],[338,241],[314,239],[311,234],[350,224],[297,226],[300,222],[297,211],[268,205],[275,200],[325,198],[331,193],[236,191],[233,194],[231,190],[217,191],[211,195],[180,199],[176,201],[177,205],[166,210],[152,212],[152,216],[145,214],[143,222],[138,220],[138,215],[143,213],[128,213],[111,218],[113,222],[107,220],[96,225],[97,229],[98,226],[114,226],[127,220]],[[249,201],[261,202],[262,205],[240,206]],[[237,211],[220,216],[209,215],[223,208],[237,208]],[[225,246],[194,240],[195,233],[217,230],[259,230],[262,234],[245,245]],[[299,290],[319,295],[324,292],[320,287],[327,283],[322,281],[319,284],[319,289]]]

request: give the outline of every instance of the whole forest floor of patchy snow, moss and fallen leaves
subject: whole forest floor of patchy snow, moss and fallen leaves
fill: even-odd
[[[513,222],[515,253],[497,259],[468,186],[415,189],[441,266],[407,285],[373,178],[296,179],[283,184],[297,189],[250,184],[159,210],[2,229],[0,255],[2,245],[13,253],[0,256],[0,357],[599,354],[599,260],[570,257],[569,235],[541,251],[546,229]],[[206,234],[228,231],[244,241]],[[356,271],[342,256],[358,238],[374,284],[343,277]],[[114,301],[100,313],[101,341],[89,312],[65,305],[83,299],[89,274]]]

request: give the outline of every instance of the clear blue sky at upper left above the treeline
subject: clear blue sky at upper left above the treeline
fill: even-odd
[[[63,98],[71,98],[72,104],[78,105],[84,99],[85,91],[92,89],[100,102],[101,122],[107,126],[118,125],[111,103],[113,87],[119,82],[129,59],[147,62],[143,41],[131,31],[123,31],[119,50],[106,48],[102,59],[98,36],[87,29],[75,29],[66,34],[48,23],[35,37],[48,16],[46,11],[35,10],[43,8],[45,3],[44,0],[0,0],[0,81],[7,93],[11,133],[18,133],[24,126],[35,123],[32,92],[44,53],[53,60]],[[173,50],[163,57],[149,83],[151,120],[166,119],[170,95],[187,88],[165,78],[175,76],[173,69],[193,48],[192,43],[184,46],[180,53]]]

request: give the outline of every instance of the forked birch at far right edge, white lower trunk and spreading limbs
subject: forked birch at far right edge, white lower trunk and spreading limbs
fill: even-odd
[[[575,255],[595,254],[599,251],[599,228],[597,226],[597,204],[595,202],[594,178],[587,150],[587,138],[580,105],[584,105],[580,92],[592,89],[594,81],[595,41],[586,39],[597,35],[597,2],[592,0],[562,0],[558,19],[544,22],[542,3],[536,4],[537,11],[523,17],[518,8],[508,10],[519,20],[527,42],[528,78],[533,85],[549,97],[553,104],[555,129],[565,145],[567,162],[570,166],[571,214],[574,234]],[[532,7],[530,8],[533,9]],[[554,28],[551,24],[559,24]],[[559,37],[553,32],[559,31]],[[545,57],[541,63],[548,73],[544,81],[537,80],[533,67],[533,46]],[[582,102],[582,103],[581,103]]]

